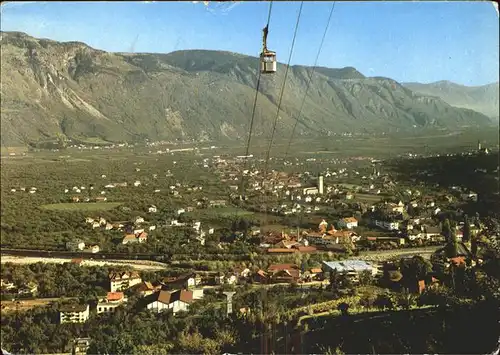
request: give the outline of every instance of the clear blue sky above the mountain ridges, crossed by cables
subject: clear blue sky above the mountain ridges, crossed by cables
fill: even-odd
[[[268,2],[26,2],[2,5],[2,31],[120,52],[228,50],[258,55]],[[286,62],[300,2],[274,2],[268,47]],[[312,65],[331,2],[305,2],[292,64]],[[490,2],[338,2],[319,65],[400,82],[498,81]]]

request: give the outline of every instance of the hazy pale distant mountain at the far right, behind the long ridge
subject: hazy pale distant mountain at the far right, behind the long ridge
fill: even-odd
[[[403,85],[422,95],[436,96],[452,106],[468,108],[498,120],[498,82],[483,86],[464,86],[449,81]]]

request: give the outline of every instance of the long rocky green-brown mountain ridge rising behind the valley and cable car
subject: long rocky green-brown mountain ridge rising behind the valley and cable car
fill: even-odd
[[[144,141],[245,137],[258,59],[206,50],[107,53],[84,43],[1,34],[1,137],[5,145],[44,139]],[[290,68],[277,135],[290,131],[311,68]],[[267,137],[285,65],[264,76],[255,135]],[[381,132],[490,124],[477,112],[416,94],[354,68],[319,68],[298,134]]]

